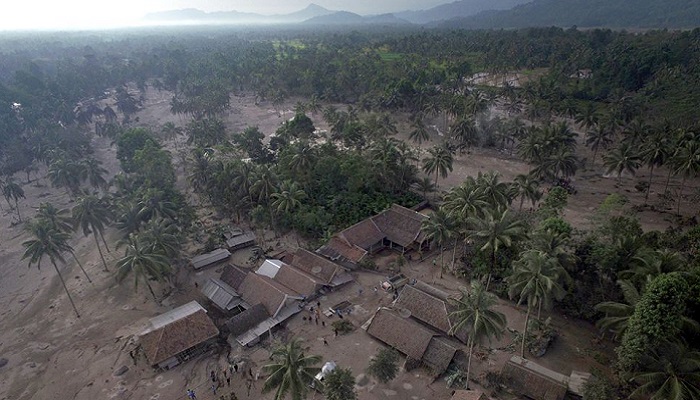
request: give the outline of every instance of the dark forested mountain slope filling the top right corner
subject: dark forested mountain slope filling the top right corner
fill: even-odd
[[[535,0],[507,11],[486,11],[436,26],[523,28],[579,26],[608,28],[694,28],[700,26],[698,0]]]

